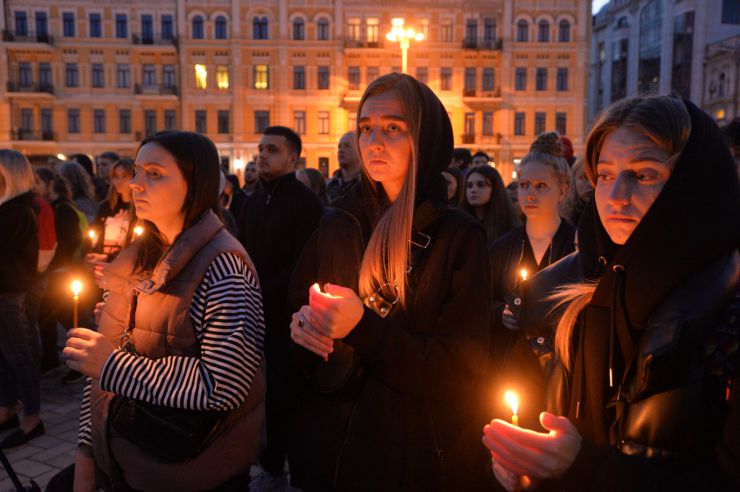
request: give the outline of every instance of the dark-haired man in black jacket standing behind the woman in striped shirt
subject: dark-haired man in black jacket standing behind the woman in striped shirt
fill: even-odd
[[[262,186],[247,200],[240,227],[239,239],[257,268],[265,310],[267,447],[260,464],[269,474],[266,480],[285,480],[282,474],[297,381],[288,357],[288,281],[323,214],[316,195],[295,178],[300,155],[301,139],[293,130],[283,126],[265,130],[257,158]]]

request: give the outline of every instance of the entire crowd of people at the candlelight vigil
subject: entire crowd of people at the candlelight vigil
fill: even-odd
[[[736,127],[625,99],[507,187],[412,77],[357,115],[330,179],[283,126],[0,150],[0,449],[64,362],[75,491],[740,487]]]

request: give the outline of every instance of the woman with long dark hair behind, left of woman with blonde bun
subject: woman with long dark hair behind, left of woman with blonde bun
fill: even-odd
[[[519,225],[501,175],[489,166],[474,167],[468,172],[463,210],[480,221],[489,243]]]

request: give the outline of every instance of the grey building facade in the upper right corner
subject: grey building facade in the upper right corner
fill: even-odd
[[[589,119],[625,96],[675,93],[740,116],[740,2],[611,0],[595,16]]]

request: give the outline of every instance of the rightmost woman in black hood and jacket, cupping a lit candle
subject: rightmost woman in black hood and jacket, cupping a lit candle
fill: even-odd
[[[678,98],[625,99],[596,120],[585,158],[595,195],[579,251],[531,279],[520,319],[542,337],[535,353],[557,356],[539,418],[549,433],[487,425],[496,478],[508,490],[517,475],[544,490],[738,490],[740,192],[719,128]],[[530,299],[554,336],[527,321]]]

